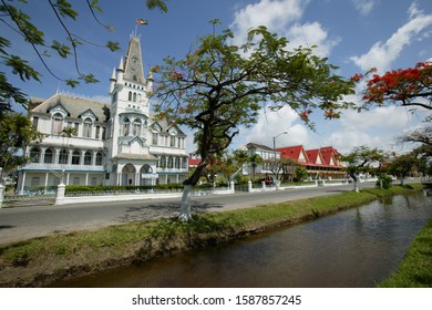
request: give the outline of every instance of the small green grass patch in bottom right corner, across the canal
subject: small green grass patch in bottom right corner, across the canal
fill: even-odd
[[[416,235],[399,269],[381,282],[382,288],[432,287],[432,219]]]

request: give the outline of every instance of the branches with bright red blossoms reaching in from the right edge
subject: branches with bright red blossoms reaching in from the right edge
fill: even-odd
[[[366,75],[376,72],[369,71]],[[356,74],[351,81],[358,83],[366,76]],[[432,63],[419,62],[414,68],[373,74],[366,84],[364,106],[372,104],[418,106],[432,110]]]

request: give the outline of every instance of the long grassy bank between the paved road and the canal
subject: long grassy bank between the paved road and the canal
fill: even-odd
[[[53,280],[212,246],[233,238],[311,220],[379,197],[420,190],[394,186],[250,209],[200,214],[191,223],[138,221],[96,231],[78,231],[0,246],[0,286],[43,286]]]

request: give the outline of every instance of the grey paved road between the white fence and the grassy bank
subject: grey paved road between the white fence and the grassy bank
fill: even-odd
[[[371,187],[363,183],[360,187]],[[192,209],[220,211],[352,190],[352,185],[193,197]],[[0,244],[178,215],[179,198],[0,209]]]

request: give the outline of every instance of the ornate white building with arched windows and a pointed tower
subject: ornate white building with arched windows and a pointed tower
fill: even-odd
[[[66,185],[155,185],[187,177],[186,135],[155,121],[144,76],[140,39],[110,79],[111,104],[65,93],[32,100],[33,126],[45,135],[25,147],[31,163],[20,167],[17,189]],[[68,137],[64,127],[76,128]]]

